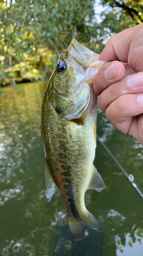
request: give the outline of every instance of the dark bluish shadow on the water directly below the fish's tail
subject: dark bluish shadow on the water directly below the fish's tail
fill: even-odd
[[[60,226],[53,256],[102,256],[103,239],[104,232],[88,229],[82,240],[75,241],[68,225]]]

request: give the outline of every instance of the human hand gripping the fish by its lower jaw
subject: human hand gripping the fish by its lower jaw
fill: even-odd
[[[99,108],[119,131],[143,143],[143,24],[112,36],[100,60],[94,90]],[[122,61],[122,62],[120,62]]]

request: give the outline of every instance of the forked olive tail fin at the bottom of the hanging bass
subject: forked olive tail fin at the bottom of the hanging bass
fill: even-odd
[[[74,240],[79,241],[84,237],[84,232],[87,229],[95,229],[97,231],[103,231],[101,224],[95,219],[95,217],[88,211],[87,219],[75,220],[73,217],[67,216],[70,231],[74,237]]]

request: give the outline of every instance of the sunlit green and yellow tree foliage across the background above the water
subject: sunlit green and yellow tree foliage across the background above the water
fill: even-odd
[[[100,53],[106,38],[143,19],[139,0],[104,0],[100,22],[94,3],[1,0],[0,85],[46,80],[73,37]]]

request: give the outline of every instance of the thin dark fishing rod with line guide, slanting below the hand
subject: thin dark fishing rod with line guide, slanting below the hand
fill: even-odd
[[[104,142],[101,141],[101,138],[97,135],[97,139],[101,143],[101,145],[105,148],[107,153],[110,155],[110,157],[115,161],[115,163],[118,165],[118,167],[122,170],[122,173],[126,176],[128,181],[131,183],[131,185],[134,187],[138,195],[142,198],[143,200],[143,191],[142,189],[137,185],[137,183],[134,181],[134,176],[132,174],[128,175],[126,170],[123,168],[123,166],[118,162],[115,156],[110,152],[109,148],[104,144]]]

